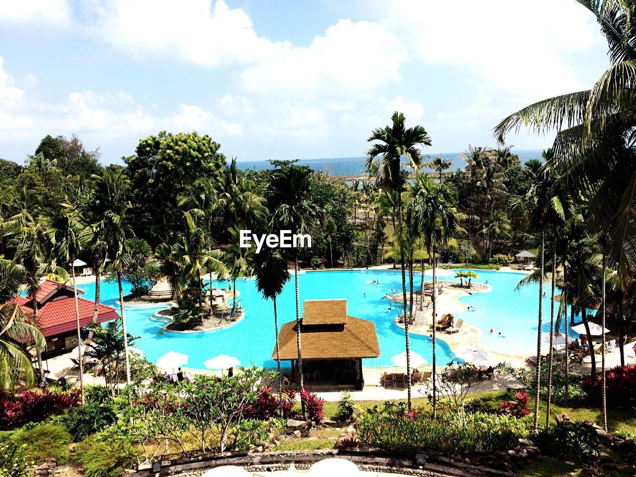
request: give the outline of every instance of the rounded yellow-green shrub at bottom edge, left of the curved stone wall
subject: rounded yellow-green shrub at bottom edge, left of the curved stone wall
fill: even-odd
[[[109,441],[88,438],[76,445],[74,462],[81,462],[86,477],[118,477],[132,464],[130,455],[122,455]]]

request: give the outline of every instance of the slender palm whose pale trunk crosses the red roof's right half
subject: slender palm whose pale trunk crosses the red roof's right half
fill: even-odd
[[[71,265],[73,277],[73,298],[75,301],[75,321],[78,340],[79,391],[84,402],[84,363],[81,347],[81,325],[79,323],[78,289],[75,282],[74,261],[83,249],[83,226],[79,212],[71,204],[60,204],[60,209],[44,209],[42,218],[45,235],[53,256],[62,263]]]

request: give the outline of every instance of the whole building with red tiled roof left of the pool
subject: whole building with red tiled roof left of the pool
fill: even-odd
[[[81,298],[84,292],[78,289],[79,324],[83,328],[93,321],[95,302]],[[33,317],[31,294],[15,299],[27,317]],[[38,303],[38,329],[46,338],[46,351],[64,352],[77,346],[77,321],[75,316],[74,288],[55,280],[44,280],[36,292]],[[99,304],[97,322],[117,319],[113,307]]]

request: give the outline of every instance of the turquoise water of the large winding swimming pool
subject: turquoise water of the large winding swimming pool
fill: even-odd
[[[430,272],[427,272],[429,275]],[[497,349],[511,354],[531,352],[536,343],[536,319],[538,310],[537,287],[530,286],[515,291],[520,273],[479,271],[477,282],[486,282],[493,287],[490,293],[474,294],[462,298],[466,305],[476,308],[474,312],[464,312],[458,317],[467,324],[483,331],[481,344],[487,349]],[[443,277],[443,279],[452,279]],[[371,283],[380,280],[379,284]],[[345,298],[349,314],[375,323],[380,343],[381,355],[373,359],[364,359],[364,366],[392,366],[391,357],[403,352],[404,332],[394,324],[395,308],[389,310],[389,301],[382,298],[391,289],[401,287],[401,274],[397,270],[342,270],[336,272],[307,272],[299,275],[301,313],[303,300],[326,298]],[[416,280],[418,283],[419,280]],[[217,286],[225,287],[226,282]],[[125,293],[130,289],[125,284]],[[417,286],[418,287],[418,286]],[[92,300],[95,296],[95,284],[79,286]],[[156,361],[169,350],[189,356],[188,367],[204,369],[204,361],[219,354],[237,357],[242,364],[254,363],[256,366],[274,367],[271,359],[275,343],[272,301],[263,300],[256,291],[254,280],[238,280],[237,289],[240,300],[246,310],[242,321],[228,328],[207,333],[177,335],[163,333],[163,322],[150,317],[162,307],[126,307],[128,333],[141,336],[135,347],[144,351],[151,361]],[[106,305],[117,307],[118,289],[116,283],[102,282],[101,300]],[[550,300],[546,298],[546,310],[549,317]],[[294,282],[286,284],[277,300],[279,324],[295,319]],[[443,313],[443,310],[440,310]],[[549,329],[549,323],[548,323]],[[488,330],[495,329],[494,335]],[[502,332],[504,338],[497,333]],[[431,361],[432,344],[421,335],[411,335],[411,349]],[[438,363],[448,363],[454,354],[446,343],[438,342]]]

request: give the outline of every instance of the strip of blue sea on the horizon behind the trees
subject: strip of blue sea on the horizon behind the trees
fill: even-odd
[[[522,164],[529,159],[541,159],[541,152],[541,149],[513,149],[513,153],[520,156]],[[431,156],[432,158],[439,156],[439,154],[429,154],[427,156]],[[441,156],[452,161],[452,170],[464,169],[464,167],[466,167],[466,162],[459,158],[459,153],[443,153]],[[357,176],[359,174],[364,174],[363,171],[366,169],[366,158],[364,156],[359,156],[301,159],[298,161],[298,164],[307,165],[314,170],[328,170],[330,176]],[[237,162],[237,166],[239,166],[242,170],[273,169],[273,165],[264,160],[239,161]]]

